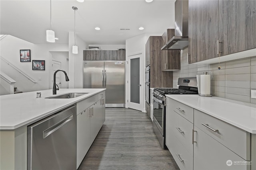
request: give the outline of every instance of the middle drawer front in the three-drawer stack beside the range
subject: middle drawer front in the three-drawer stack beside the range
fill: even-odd
[[[176,113],[173,112],[174,117],[174,126],[172,126],[174,135],[177,137],[178,141],[184,146],[190,154],[193,155],[193,144],[192,144],[192,129],[193,124]]]

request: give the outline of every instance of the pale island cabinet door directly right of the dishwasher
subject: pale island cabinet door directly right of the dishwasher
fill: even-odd
[[[77,152],[76,168],[80,165],[90,148],[90,117],[89,108],[77,115]]]

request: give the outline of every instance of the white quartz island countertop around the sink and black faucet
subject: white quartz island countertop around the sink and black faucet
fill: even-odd
[[[106,89],[68,88],[60,89],[56,95],[52,95],[52,89],[50,89],[0,96],[0,129],[16,129],[29,125],[104,90]],[[36,92],[41,92],[41,98],[36,98]],[[49,96],[70,92],[88,94],[68,99],[46,99]]]

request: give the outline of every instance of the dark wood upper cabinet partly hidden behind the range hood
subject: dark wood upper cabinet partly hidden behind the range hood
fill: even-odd
[[[163,44],[174,36],[175,29],[167,29],[163,33]],[[180,70],[180,50],[162,50],[162,71]]]

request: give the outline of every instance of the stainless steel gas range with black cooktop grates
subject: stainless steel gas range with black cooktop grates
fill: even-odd
[[[166,94],[198,94],[196,77],[178,78],[179,88],[154,88],[153,130],[163,149],[165,146]]]

